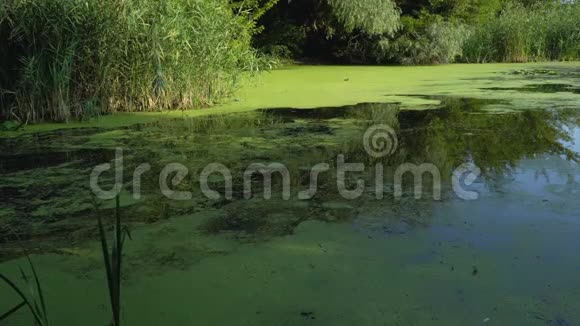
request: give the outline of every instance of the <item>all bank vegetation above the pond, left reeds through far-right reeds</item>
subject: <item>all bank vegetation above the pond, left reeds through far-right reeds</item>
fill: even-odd
[[[574,0],[5,0],[0,120],[211,105],[265,58],[573,60],[578,17]]]

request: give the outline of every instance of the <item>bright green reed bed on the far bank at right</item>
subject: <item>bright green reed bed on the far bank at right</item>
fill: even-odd
[[[580,4],[509,4],[474,27],[468,62],[528,62],[580,58]]]

